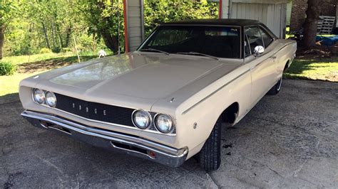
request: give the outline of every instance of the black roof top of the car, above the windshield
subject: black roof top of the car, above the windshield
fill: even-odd
[[[260,21],[249,20],[249,19],[195,19],[195,20],[188,20],[188,21],[173,21],[167,23],[161,23],[161,25],[228,25],[228,26],[249,26],[249,25],[256,25],[261,24]]]

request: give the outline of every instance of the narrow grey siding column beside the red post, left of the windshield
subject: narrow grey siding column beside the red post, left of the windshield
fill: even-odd
[[[143,41],[143,0],[127,0],[128,46],[136,50]]]

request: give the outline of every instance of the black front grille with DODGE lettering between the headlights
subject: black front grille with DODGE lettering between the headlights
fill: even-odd
[[[131,115],[135,109],[126,107],[116,107],[107,104],[101,104],[97,102],[87,102],[82,99],[76,99],[65,95],[55,93],[57,103],[56,108],[61,109],[71,114],[76,114],[86,119],[92,119],[95,121],[104,121],[112,124],[121,124],[123,126],[132,126]],[[154,120],[155,112],[149,112]],[[155,124],[152,123],[149,130],[158,131]],[[175,133],[175,130],[172,134]]]

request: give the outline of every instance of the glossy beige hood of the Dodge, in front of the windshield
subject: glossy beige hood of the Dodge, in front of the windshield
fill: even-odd
[[[129,53],[63,69],[48,80],[85,93],[162,99],[220,65],[210,58]]]

